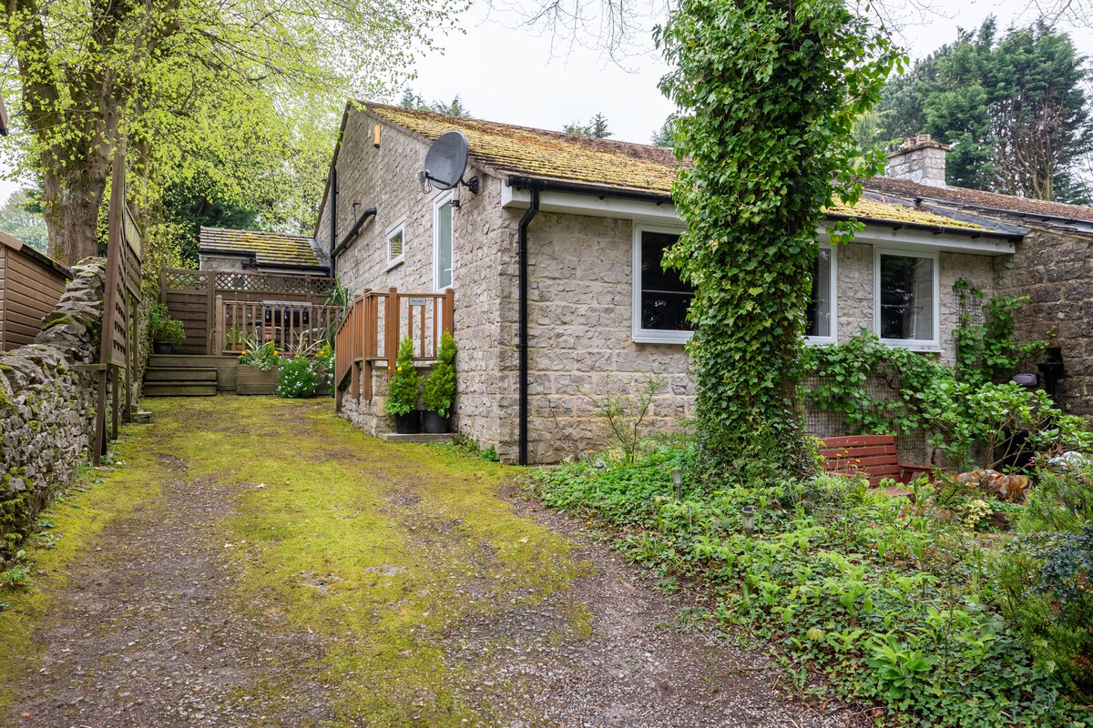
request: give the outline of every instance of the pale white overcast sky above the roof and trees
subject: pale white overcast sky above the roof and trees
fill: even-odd
[[[548,35],[521,25],[515,12],[491,9],[483,0],[474,2],[463,16],[466,34],[448,35],[443,40],[444,53],[418,60],[418,79],[410,85],[426,99],[447,102],[459,94],[477,118],[540,129],[561,130],[601,112],[613,139],[642,143],[648,143],[671,112],[671,104],[657,88],[667,67],[654,51],[649,35],[644,36],[646,52],[631,56],[623,69],[595,50],[571,49],[561,41],[552,48]],[[978,27],[991,14],[1003,29],[1010,24],[1029,25],[1036,17],[1036,0],[882,2],[912,58],[952,41],[957,27]],[[932,9],[919,10],[922,4]],[[1058,27],[1071,34],[1080,52],[1093,56],[1089,28]],[[0,180],[0,201],[15,189],[14,182]]]

